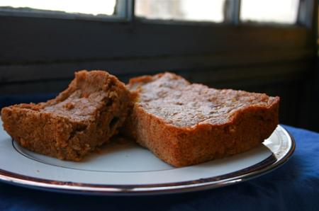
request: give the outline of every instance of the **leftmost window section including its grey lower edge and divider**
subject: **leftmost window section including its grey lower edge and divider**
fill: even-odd
[[[50,18],[125,18],[125,0],[1,0],[0,14]],[[116,4],[121,6],[117,6]]]

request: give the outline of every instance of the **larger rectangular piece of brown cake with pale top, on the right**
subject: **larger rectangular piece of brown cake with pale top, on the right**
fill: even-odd
[[[130,80],[135,98],[125,132],[172,166],[257,147],[278,125],[279,97],[190,84],[164,73]]]

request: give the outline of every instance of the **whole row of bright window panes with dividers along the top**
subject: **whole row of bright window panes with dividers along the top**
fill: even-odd
[[[308,1],[312,0],[302,2]],[[294,24],[298,6],[299,0],[2,0],[0,15],[106,21],[130,21],[136,16],[164,21]]]

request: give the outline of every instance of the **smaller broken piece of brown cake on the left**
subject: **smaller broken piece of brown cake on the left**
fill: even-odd
[[[118,132],[129,105],[130,92],[115,76],[83,70],[55,99],[11,105],[1,110],[1,118],[22,147],[80,161]]]

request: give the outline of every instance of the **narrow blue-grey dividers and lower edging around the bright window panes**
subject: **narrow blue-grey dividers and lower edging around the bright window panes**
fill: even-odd
[[[315,0],[300,0],[298,6],[298,17],[296,24],[306,25],[308,28],[312,25],[313,7]],[[116,0],[116,8],[114,14],[110,16],[93,16],[84,13],[66,13],[63,11],[21,11],[19,8],[4,9],[0,8],[0,16],[17,16],[22,18],[57,18],[83,21],[111,21],[119,23],[131,23],[138,20],[143,23],[150,24],[173,24],[173,25],[293,25],[289,23],[272,23],[272,22],[241,22],[240,21],[240,5],[241,0],[225,0],[225,20],[223,23],[215,23],[213,21],[183,21],[183,20],[162,20],[147,19],[135,16],[135,0]]]

